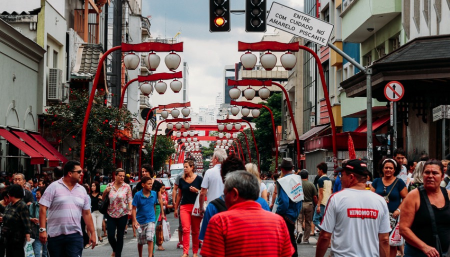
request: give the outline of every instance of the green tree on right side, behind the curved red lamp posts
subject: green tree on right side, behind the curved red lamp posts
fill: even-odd
[[[273,113],[273,120],[276,126],[281,125],[281,93],[274,93],[263,105],[270,108]],[[258,144],[259,158],[261,161],[261,172],[269,172],[270,163],[272,159],[272,148],[274,147],[273,142],[273,129],[272,122],[270,118],[270,113],[262,108],[260,110],[259,117],[253,120],[255,123],[254,137],[256,138],[256,143]],[[273,173],[273,170],[270,170]]]

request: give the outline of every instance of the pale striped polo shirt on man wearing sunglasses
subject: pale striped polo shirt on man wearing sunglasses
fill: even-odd
[[[57,237],[81,232],[81,212],[90,210],[89,196],[79,184],[70,191],[59,179],[45,190],[39,204],[47,210],[47,236]]]

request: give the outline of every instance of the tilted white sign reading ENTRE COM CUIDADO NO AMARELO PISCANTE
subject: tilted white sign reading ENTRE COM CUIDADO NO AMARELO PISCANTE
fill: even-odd
[[[267,25],[281,29],[306,40],[326,46],[333,24],[301,11],[273,2],[267,15]]]

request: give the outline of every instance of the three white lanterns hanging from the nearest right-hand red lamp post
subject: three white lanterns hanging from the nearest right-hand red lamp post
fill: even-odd
[[[252,70],[256,65],[256,60],[256,55],[252,54],[250,51],[247,51],[240,56],[240,62],[246,70]],[[259,60],[265,70],[272,70],[276,65],[276,56],[270,51],[262,54],[259,57]],[[292,70],[297,63],[297,57],[295,57],[295,55],[290,51],[287,51],[281,55],[280,61],[285,70]]]

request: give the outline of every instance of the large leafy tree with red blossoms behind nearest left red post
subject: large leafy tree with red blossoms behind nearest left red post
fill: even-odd
[[[69,153],[79,157],[81,128],[87,108],[89,95],[85,90],[70,90],[68,104],[55,104],[46,109],[46,122],[50,124],[47,130],[61,136],[61,141],[75,142]],[[95,95],[89,122],[86,128],[85,168],[113,170],[113,149],[111,147],[114,129],[132,129],[132,115],[125,108],[118,109],[103,104],[103,97]],[[73,144],[72,144],[73,145]],[[121,158],[116,150],[116,158]],[[72,157],[72,158],[73,158]]]

